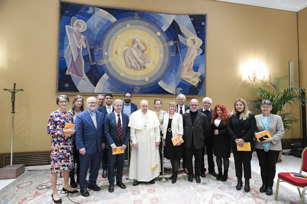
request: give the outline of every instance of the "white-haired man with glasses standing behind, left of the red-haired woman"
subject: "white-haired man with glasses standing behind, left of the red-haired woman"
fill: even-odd
[[[198,109],[200,113],[204,113],[207,116],[208,120],[208,127],[211,127],[211,119],[212,119],[212,113],[213,110],[210,109],[210,106],[212,104],[212,99],[209,97],[205,97],[203,99],[203,108]],[[208,172],[212,174],[213,176],[217,176],[217,173],[214,170],[214,161],[213,161],[213,148],[212,148],[212,129],[208,128],[205,136],[205,146],[202,150],[202,158],[201,158],[201,168],[200,168],[200,176],[206,177],[206,168],[204,163],[204,155],[205,155],[205,148],[207,149],[207,157],[208,157]]]

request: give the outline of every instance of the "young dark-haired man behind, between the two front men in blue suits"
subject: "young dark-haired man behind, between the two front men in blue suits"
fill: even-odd
[[[103,121],[104,121],[107,114],[114,112],[114,108],[113,108],[113,105],[112,105],[113,95],[112,94],[106,94],[104,96],[104,98],[105,98],[106,106],[103,106],[103,107],[98,109],[98,111],[103,113]],[[101,163],[102,163],[102,177],[107,178],[107,169],[108,169],[107,149],[104,149],[102,151]]]

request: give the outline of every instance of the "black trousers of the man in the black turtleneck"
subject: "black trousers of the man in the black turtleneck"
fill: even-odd
[[[195,168],[195,176],[200,176],[200,165],[201,165],[201,150],[200,149],[196,149],[194,147],[194,141],[192,140],[191,146],[190,147],[185,147],[185,153],[186,153],[186,165],[187,165],[187,169],[189,172],[189,175],[193,175],[193,154],[194,154],[194,168]]]

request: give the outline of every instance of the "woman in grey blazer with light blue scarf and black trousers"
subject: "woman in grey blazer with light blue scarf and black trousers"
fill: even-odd
[[[273,183],[276,172],[276,162],[279,151],[282,150],[280,139],[285,133],[282,118],[279,115],[271,114],[272,102],[263,100],[261,102],[262,114],[255,116],[257,121],[257,132],[268,130],[271,138],[264,138],[265,141],[258,142],[255,135],[255,148],[259,160],[262,186],[260,192],[266,195],[273,194]]]

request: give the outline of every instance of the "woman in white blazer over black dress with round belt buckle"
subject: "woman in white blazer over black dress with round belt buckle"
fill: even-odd
[[[164,115],[163,119],[163,146],[164,157],[169,159],[173,168],[173,175],[169,177],[172,180],[172,184],[176,183],[178,176],[178,167],[182,158],[182,135],[183,124],[182,115],[177,113],[177,106],[175,102],[169,102],[169,113]],[[176,145],[173,145],[172,138],[179,136],[179,140]]]

